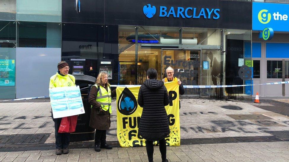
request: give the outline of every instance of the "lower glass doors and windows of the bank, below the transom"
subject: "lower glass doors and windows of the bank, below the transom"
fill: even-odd
[[[168,47],[175,46],[179,45]],[[213,85],[220,85],[223,58],[218,54],[219,46],[210,48],[215,49],[206,49],[202,45],[187,46],[186,49],[139,45],[137,66],[134,50],[125,52],[125,56],[120,55],[120,84],[142,84],[146,80],[148,68],[155,68],[158,71],[158,80],[162,80],[166,77],[166,68],[171,66],[174,68],[174,77],[179,78],[184,85],[211,85],[212,81]],[[122,62],[122,59],[126,61]],[[215,73],[213,77],[212,73]],[[208,89],[186,89],[184,95],[208,95]]]

